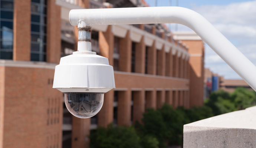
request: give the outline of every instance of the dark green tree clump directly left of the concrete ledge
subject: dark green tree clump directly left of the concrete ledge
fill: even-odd
[[[137,122],[135,128],[141,135],[157,138],[158,146],[165,148],[168,145],[182,145],[184,124],[209,118],[212,115],[209,107],[194,107],[188,110],[178,107],[174,110],[170,105],[164,104],[156,111],[148,109],[143,115],[143,124]]]

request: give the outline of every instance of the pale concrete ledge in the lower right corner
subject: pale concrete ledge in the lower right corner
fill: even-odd
[[[256,106],[184,125],[184,148],[255,148]]]

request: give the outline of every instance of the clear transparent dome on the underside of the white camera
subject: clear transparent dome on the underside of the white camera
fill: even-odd
[[[101,110],[104,93],[68,92],[64,93],[64,100],[72,115],[78,118],[90,118]]]

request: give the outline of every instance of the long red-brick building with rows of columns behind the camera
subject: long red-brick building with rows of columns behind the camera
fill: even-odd
[[[68,112],[52,83],[60,57],[77,48],[69,10],[137,6],[146,4],[0,0],[0,148],[88,147],[90,129],[98,126],[129,126],[164,102],[174,108],[203,104],[204,43],[198,36],[175,38],[161,24],[105,25],[92,27],[92,50],[109,58],[116,88],[104,95],[96,116]]]

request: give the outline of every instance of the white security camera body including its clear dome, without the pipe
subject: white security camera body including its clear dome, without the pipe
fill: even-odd
[[[108,58],[91,51],[76,51],[60,58],[53,88],[64,93],[71,114],[89,118],[101,110],[104,94],[115,88],[114,70]]]

